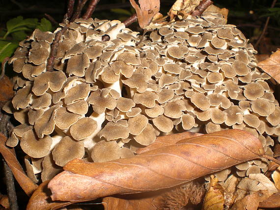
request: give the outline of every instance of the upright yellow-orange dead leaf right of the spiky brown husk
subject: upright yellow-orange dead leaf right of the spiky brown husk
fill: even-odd
[[[224,188],[214,175],[210,176],[210,187],[205,195],[202,210],[224,210]]]

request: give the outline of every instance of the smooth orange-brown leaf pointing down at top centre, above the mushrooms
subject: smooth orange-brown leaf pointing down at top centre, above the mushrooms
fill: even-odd
[[[139,0],[140,6],[135,0],[130,0],[130,3],[136,10],[141,28],[148,26],[153,17],[160,11],[160,0]]]

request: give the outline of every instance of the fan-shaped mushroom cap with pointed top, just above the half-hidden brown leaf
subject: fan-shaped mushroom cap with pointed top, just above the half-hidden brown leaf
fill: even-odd
[[[134,139],[141,145],[148,146],[156,140],[155,129],[151,124],[147,124],[144,130]]]

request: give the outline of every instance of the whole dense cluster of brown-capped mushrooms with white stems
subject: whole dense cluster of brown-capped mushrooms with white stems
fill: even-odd
[[[159,26],[140,35],[119,21],[67,23],[54,71],[47,59],[55,33],[36,29],[10,59],[16,95],[3,109],[21,125],[28,175],[55,176],[68,161],[102,162],[134,156],[157,136],[183,131],[242,129],[267,153],[280,134],[280,107],[256,67],[256,51],[219,14]],[[102,41],[107,35],[109,41]],[[265,159],[237,165],[238,176],[267,170]],[[217,173],[224,181],[229,169]]]

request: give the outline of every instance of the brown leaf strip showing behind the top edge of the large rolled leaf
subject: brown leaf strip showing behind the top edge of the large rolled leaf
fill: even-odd
[[[148,152],[151,150],[160,149],[160,148],[163,148],[166,146],[174,145],[178,141],[181,141],[183,139],[192,138],[192,137],[196,137],[199,135],[203,135],[203,134],[186,131],[186,132],[176,133],[176,134],[172,134],[172,135],[159,136],[156,138],[156,140],[152,144],[150,144],[149,146],[140,148],[136,152],[137,152],[137,154],[141,154],[141,153]]]

